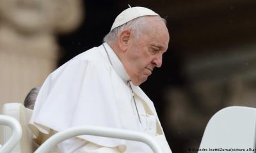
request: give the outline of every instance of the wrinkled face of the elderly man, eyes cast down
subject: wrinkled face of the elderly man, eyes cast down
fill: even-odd
[[[131,36],[127,48],[127,62],[124,65],[134,85],[140,85],[151,75],[155,67],[160,68],[162,57],[169,43],[166,25],[159,18],[142,31],[137,39]]]

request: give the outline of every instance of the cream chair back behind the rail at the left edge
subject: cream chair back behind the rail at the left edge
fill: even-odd
[[[28,122],[32,114],[32,110],[25,108],[24,105],[21,103],[6,103],[3,105],[2,112],[3,115],[8,115],[10,117],[15,118],[21,128],[22,128],[22,138],[21,140],[15,145],[12,152],[8,153],[31,153],[36,150],[38,145],[33,142],[33,134],[31,133],[30,129],[28,128]],[[2,143],[6,143],[8,139],[12,135],[12,130],[4,126],[2,127],[0,136],[2,137]]]

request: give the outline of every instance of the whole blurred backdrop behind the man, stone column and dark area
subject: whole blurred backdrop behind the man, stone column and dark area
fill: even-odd
[[[101,45],[128,4],[168,22],[163,66],[141,88],[174,153],[198,149],[221,108],[256,107],[255,0],[0,0],[0,106],[23,103],[51,71]]]

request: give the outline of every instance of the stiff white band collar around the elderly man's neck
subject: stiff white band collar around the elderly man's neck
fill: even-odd
[[[103,47],[106,47],[106,53],[109,55],[109,62],[115,69],[118,76],[121,77],[122,80],[124,80],[124,82],[129,82],[129,80],[131,79],[126,72],[124,65],[122,64],[118,56],[115,54],[113,49],[106,42],[103,43]]]

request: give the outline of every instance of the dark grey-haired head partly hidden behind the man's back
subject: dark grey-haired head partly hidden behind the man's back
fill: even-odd
[[[31,89],[31,91],[29,91],[28,95],[26,96],[26,98],[24,100],[24,106],[26,108],[29,108],[31,110],[34,109],[36,97],[37,97],[38,92],[40,91],[41,87],[42,87],[42,85],[39,85],[39,86]]]

